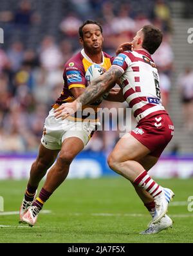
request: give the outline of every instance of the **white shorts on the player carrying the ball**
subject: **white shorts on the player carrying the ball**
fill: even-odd
[[[62,120],[62,118],[57,119],[54,116],[54,109],[51,109],[44,123],[41,143],[47,149],[55,150],[61,149],[62,142],[66,138],[77,137],[86,146],[95,125],[95,122],[73,122],[67,119]]]

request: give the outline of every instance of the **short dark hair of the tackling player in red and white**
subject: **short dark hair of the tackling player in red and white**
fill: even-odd
[[[142,28],[144,39],[142,47],[150,54],[154,54],[161,45],[163,34],[161,30],[153,25],[146,25]]]

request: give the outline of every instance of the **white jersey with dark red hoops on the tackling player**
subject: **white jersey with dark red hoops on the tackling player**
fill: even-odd
[[[124,98],[132,108],[136,122],[156,111],[165,112],[161,105],[159,75],[149,52],[145,49],[118,54],[112,67],[118,68]]]

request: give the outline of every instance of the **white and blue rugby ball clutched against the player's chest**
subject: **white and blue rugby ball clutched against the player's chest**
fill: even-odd
[[[91,83],[91,81],[95,80],[102,74],[104,74],[104,69],[100,65],[98,65],[98,64],[91,65],[87,69],[86,74],[85,74],[85,78],[87,80],[87,85],[89,85]],[[109,95],[109,92],[106,92],[105,94],[103,94],[100,97],[100,99],[98,101],[100,101],[100,103],[101,103],[102,100],[106,100],[108,95]],[[98,101],[97,101],[97,103],[98,103]]]

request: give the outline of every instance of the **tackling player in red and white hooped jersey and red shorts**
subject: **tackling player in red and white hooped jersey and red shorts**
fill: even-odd
[[[131,133],[120,138],[109,155],[108,164],[116,173],[131,181],[151,213],[152,221],[142,234],[158,233],[172,226],[172,220],[166,212],[174,193],[159,186],[147,174],[174,133],[169,114],[161,105],[158,70],[151,58],[161,41],[162,33],[158,28],[144,26],[131,42],[133,51],[118,54],[111,68],[92,81],[77,100],[62,104],[55,111],[56,118],[66,118],[82,105],[101,96],[120,78],[124,98],[138,125]]]

